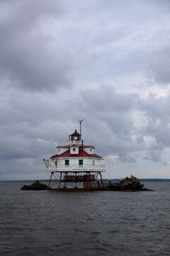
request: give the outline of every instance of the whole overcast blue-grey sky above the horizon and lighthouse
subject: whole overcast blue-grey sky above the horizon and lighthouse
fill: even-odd
[[[79,131],[103,178],[170,178],[170,1],[0,0],[0,180]]]

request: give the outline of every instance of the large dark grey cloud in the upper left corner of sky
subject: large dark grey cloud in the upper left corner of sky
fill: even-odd
[[[62,12],[57,1],[5,1],[0,27],[0,74],[11,87],[54,90],[72,85],[72,55],[60,36],[40,31],[46,19]],[[19,14],[19,15],[18,15]],[[41,19],[42,18],[42,19]]]

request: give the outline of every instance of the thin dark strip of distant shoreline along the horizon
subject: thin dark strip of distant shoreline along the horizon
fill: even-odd
[[[112,182],[119,182],[121,178],[111,178]],[[38,179],[40,182],[49,182],[48,179]],[[140,182],[170,182],[170,178],[139,178]],[[16,180],[16,181],[0,181],[0,183],[23,183],[34,182],[35,180]],[[109,178],[103,178],[103,182],[108,182]]]

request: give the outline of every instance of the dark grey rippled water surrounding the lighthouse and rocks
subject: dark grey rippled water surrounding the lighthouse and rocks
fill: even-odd
[[[0,183],[0,255],[170,255],[170,183],[154,191],[21,191]]]

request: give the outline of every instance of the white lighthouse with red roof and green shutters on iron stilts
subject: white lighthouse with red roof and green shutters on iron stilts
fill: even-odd
[[[89,191],[103,186],[102,172],[106,171],[103,157],[94,153],[94,146],[86,145],[75,130],[64,146],[57,146],[57,154],[43,159],[50,173],[48,190]]]

